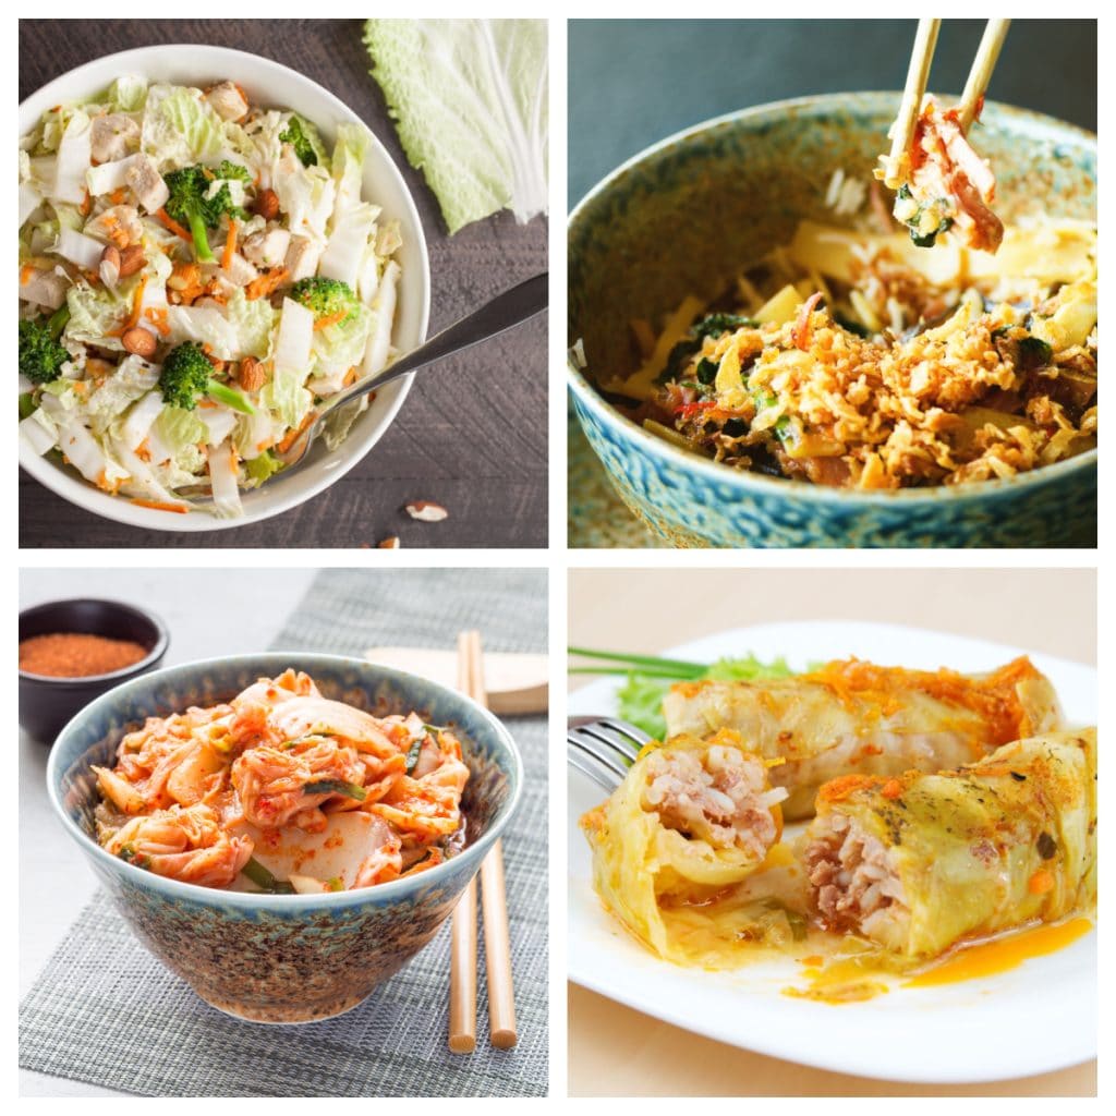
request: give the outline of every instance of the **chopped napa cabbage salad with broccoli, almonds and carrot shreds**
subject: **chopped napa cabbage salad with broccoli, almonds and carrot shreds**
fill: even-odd
[[[242,514],[323,401],[392,358],[398,223],[369,135],[118,78],[19,152],[21,439],[105,492]],[[366,400],[330,417],[335,450]]]

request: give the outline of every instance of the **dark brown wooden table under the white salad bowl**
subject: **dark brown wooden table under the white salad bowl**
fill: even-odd
[[[433,194],[403,154],[357,20],[20,20],[19,95],[83,62],[158,42],[204,42],[273,58],[340,97],[402,170],[430,248],[431,333],[546,270],[547,223],[510,213],[446,233]],[[235,76],[235,75],[231,75]],[[547,545],[546,315],[420,374],[379,443],[325,492],[282,516],[192,535],[93,516],[20,473],[23,547],[406,547]],[[403,506],[434,500],[440,523]]]

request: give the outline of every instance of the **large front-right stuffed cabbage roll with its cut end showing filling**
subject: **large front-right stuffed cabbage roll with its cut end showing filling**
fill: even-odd
[[[956,771],[826,783],[805,850],[817,917],[926,960],[1090,904],[1096,740],[1055,733]]]

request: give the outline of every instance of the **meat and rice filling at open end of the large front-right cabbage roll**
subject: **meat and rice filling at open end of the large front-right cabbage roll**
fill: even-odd
[[[837,931],[877,936],[884,923],[905,921],[903,885],[883,843],[848,818],[831,814],[806,849],[814,902],[822,922]]]

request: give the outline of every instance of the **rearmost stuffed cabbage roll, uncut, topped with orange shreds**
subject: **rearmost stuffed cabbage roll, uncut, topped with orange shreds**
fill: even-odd
[[[670,733],[734,729],[744,745],[785,762],[788,820],[814,814],[821,783],[852,771],[937,771],[1011,740],[1059,728],[1058,698],[1026,657],[985,675],[907,671],[859,660],[766,682],[682,682],[663,702]]]

